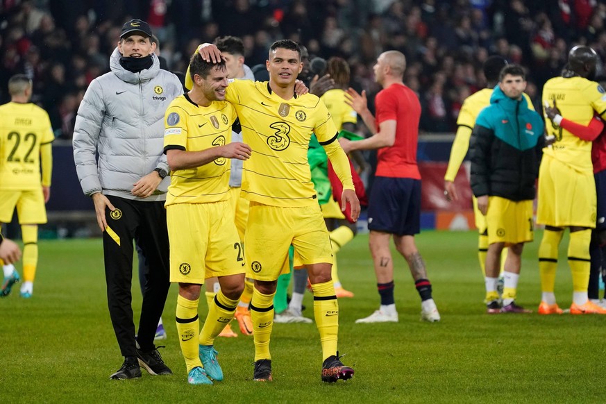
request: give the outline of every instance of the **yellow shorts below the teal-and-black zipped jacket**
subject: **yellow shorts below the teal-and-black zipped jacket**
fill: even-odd
[[[510,201],[499,196],[489,196],[488,244],[517,244],[532,242],[532,201]]]

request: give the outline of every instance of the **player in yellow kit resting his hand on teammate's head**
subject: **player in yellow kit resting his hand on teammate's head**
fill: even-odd
[[[219,60],[211,44],[199,48],[205,60]],[[273,295],[278,276],[288,271],[288,249],[294,246],[295,267],[308,269],[314,290],[314,315],[322,346],[325,382],[347,380],[353,369],[339,360],[339,305],[330,276],[333,256],[328,230],[310,178],[307,151],[312,133],[318,138],[344,185],[343,206],[360,214],[349,162],[337,142],[337,128],[326,106],[313,94],[296,96],[303,67],[301,49],[290,40],[274,42],[266,62],[269,82],[235,81],[226,91],[242,124],[244,142],[253,150],[244,162],[242,192],[251,201],[245,242],[247,276],[255,280],[251,317],[255,340],[254,380],[271,380],[269,337]],[[187,83],[186,83],[187,85]]]

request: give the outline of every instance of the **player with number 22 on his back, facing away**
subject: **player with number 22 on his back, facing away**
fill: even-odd
[[[8,223],[17,207],[24,244],[21,296],[30,298],[38,263],[38,224],[47,223],[44,203],[51,196],[55,136],[47,112],[29,102],[32,83],[27,76],[12,76],[8,92],[10,102],[0,106],[0,224]],[[3,265],[3,271],[0,296],[8,296],[19,275],[12,264]]]

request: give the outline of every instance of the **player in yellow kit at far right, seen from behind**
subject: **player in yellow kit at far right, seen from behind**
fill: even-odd
[[[593,81],[598,55],[590,47],[573,47],[562,76],[550,78],[543,87],[543,101],[562,116],[586,126],[594,115],[606,117],[606,92]],[[591,140],[584,140],[546,119],[548,135],[555,142],[544,149],[539,169],[537,223],[545,225],[539,246],[541,304],[539,314],[560,314],[554,286],[557,250],[564,228],[570,228],[568,263],[573,281],[571,314],[606,314],[589,301],[589,243],[596,227],[596,183],[591,162]]]

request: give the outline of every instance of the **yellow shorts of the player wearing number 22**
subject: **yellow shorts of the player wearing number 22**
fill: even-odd
[[[37,190],[0,190],[0,223],[10,223],[15,206],[19,224],[47,223],[42,186]]]

